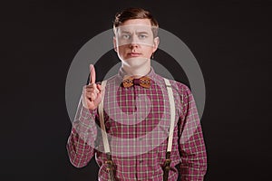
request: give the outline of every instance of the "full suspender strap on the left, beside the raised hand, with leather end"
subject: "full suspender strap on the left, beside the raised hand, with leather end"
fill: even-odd
[[[105,92],[107,81],[102,81],[102,90]],[[115,181],[114,174],[113,174],[113,162],[112,162],[112,156],[111,156],[111,149],[110,144],[107,136],[107,132],[105,129],[105,123],[104,123],[104,114],[103,114],[103,104],[104,104],[104,93],[102,94],[102,100],[100,104],[98,105],[98,114],[99,114],[99,120],[100,120],[100,127],[102,129],[102,141],[104,146],[104,151],[107,155],[107,161],[105,161],[105,164],[107,164],[107,170],[109,172],[109,177],[111,181]]]

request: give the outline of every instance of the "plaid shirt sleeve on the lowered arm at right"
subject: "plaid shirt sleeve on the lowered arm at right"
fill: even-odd
[[[182,93],[180,115],[181,180],[203,180],[207,154],[195,100],[188,87]]]

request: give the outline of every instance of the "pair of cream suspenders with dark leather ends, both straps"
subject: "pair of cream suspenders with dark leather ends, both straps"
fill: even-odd
[[[173,132],[174,132],[174,122],[175,122],[175,102],[173,97],[173,91],[170,85],[170,81],[168,79],[165,79],[166,88],[168,91],[168,97],[170,100],[170,132],[169,132],[169,138],[168,138],[168,146],[167,146],[167,152],[166,152],[166,159],[164,161],[164,168],[163,168],[163,181],[168,180],[169,176],[169,170],[170,170],[170,152],[172,150],[172,139],[173,139]],[[102,81],[102,90],[105,90],[107,81]],[[104,151],[107,155],[107,161],[105,162],[107,164],[107,170],[109,172],[110,180],[115,181],[114,174],[113,174],[113,161],[111,156],[111,150],[109,145],[109,140],[107,137],[105,124],[104,124],[104,116],[103,116],[103,100],[104,95],[102,94],[102,101],[98,106],[98,112],[99,112],[99,119],[100,119],[100,126],[102,129],[102,141],[104,146]]]

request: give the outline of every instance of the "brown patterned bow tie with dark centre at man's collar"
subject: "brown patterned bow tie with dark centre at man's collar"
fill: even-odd
[[[129,88],[132,85],[140,85],[144,88],[150,88],[151,87],[151,78],[143,76],[139,79],[135,79],[133,77],[126,78],[122,81],[122,85],[125,88]]]

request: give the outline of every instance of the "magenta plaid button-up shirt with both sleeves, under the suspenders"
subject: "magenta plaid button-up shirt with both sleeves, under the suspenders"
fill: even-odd
[[[170,128],[170,103],[163,78],[151,68],[151,88],[121,86],[124,72],[108,80],[104,122],[111,147],[114,175],[119,181],[162,180]],[[203,180],[206,148],[198,110],[189,88],[170,81],[176,109],[169,181]],[[98,178],[109,179],[97,110],[83,108],[80,100],[67,142],[74,167],[84,167],[95,155]],[[177,166],[178,168],[177,169]]]

